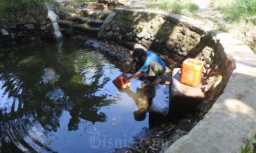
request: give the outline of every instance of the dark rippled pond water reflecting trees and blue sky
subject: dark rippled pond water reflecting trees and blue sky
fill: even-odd
[[[109,152],[148,127],[136,105],[141,81],[118,90],[112,80],[123,67],[107,55],[76,40],[5,50],[0,152]]]

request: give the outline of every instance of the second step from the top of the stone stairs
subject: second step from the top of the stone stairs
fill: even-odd
[[[82,17],[82,16],[77,16],[77,15],[72,15],[70,17],[70,20],[74,22],[79,22],[79,23],[86,23],[90,26],[95,26],[95,27],[100,27],[104,20],[102,19],[92,19],[89,17]]]

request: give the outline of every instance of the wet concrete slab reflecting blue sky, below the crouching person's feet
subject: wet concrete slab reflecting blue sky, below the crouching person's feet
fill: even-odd
[[[158,84],[154,90],[155,96],[151,103],[150,113],[167,116],[169,113],[169,84]]]

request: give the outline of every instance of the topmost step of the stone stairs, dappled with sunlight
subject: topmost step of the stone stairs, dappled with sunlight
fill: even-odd
[[[100,10],[91,10],[87,8],[79,8],[75,10],[75,13],[79,15],[83,15],[85,17],[104,20],[106,17],[109,16],[111,11],[100,11]]]

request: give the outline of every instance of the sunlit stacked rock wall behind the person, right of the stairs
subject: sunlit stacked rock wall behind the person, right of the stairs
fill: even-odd
[[[115,8],[115,15],[105,24],[102,39],[119,44],[133,42],[154,50],[172,60],[165,61],[172,68],[188,56],[200,42],[200,35],[189,27],[173,23],[165,15],[147,11]]]

